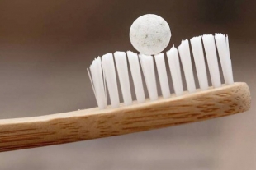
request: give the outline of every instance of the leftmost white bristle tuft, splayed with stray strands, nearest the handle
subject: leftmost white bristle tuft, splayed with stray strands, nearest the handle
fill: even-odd
[[[90,72],[92,76],[90,75]],[[90,72],[88,71],[92,88],[97,100],[97,105],[99,108],[107,107],[107,96],[104,90],[104,82],[102,76],[102,61],[100,57],[97,57],[90,66]]]

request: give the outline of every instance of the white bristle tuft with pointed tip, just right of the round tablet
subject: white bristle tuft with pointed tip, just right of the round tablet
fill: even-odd
[[[173,48],[171,48],[166,54],[168,58],[168,65],[172,75],[174,92],[177,96],[182,95],[183,80],[178,59],[178,50],[173,46]]]

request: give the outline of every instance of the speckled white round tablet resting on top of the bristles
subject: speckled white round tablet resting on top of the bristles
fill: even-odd
[[[145,55],[160,53],[168,46],[171,30],[160,16],[146,14],[137,18],[130,26],[130,42]]]

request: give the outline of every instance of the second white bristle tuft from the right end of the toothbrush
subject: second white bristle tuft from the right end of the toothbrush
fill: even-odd
[[[213,87],[220,87],[220,71],[216,54],[216,45],[212,34],[202,35],[203,44],[206,50],[206,59],[210,71]]]

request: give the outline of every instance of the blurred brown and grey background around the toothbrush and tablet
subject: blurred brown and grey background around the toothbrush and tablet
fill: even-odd
[[[229,34],[235,81],[247,82],[252,95],[247,113],[0,153],[0,169],[256,169],[255,9],[254,0],[0,0],[0,118],[95,107],[86,68],[104,53],[135,51],[130,25],[147,13],[170,25],[167,49],[201,34]]]

